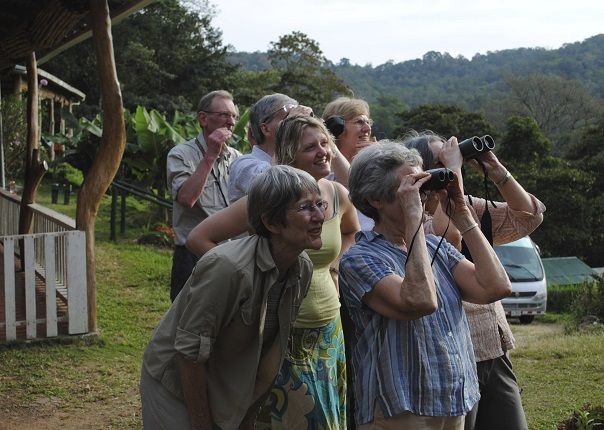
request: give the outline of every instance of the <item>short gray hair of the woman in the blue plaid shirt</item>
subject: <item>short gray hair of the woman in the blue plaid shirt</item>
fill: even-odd
[[[415,149],[401,143],[381,140],[362,149],[350,166],[350,200],[363,214],[379,221],[372,200],[392,202],[399,185],[397,170],[402,166],[421,166],[422,159]]]

